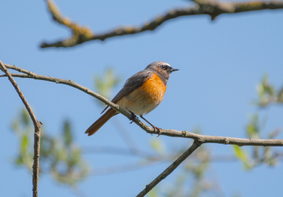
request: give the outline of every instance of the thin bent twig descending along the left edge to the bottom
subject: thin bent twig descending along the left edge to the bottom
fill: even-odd
[[[21,89],[18,87],[18,84],[13,79],[10,72],[8,72],[8,69],[5,67],[5,65],[0,60],[0,69],[6,73],[6,76],[11,81],[11,84],[13,84],[13,87],[16,89],[18,96],[20,96],[21,100],[23,101],[23,104],[25,105],[25,108],[28,110],[28,113],[30,114],[30,118],[33,120],[33,126],[35,127],[35,144],[34,144],[34,156],[33,156],[33,197],[37,197],[38,192],[38,169],[40,166],[40,128],[42,123],[37,121],[35,118],[35,114],[33,113],[33,110],[30,108],[30,105],[28,104],[28,101],[25,99],[25,96],[23,96],[23,93]]]

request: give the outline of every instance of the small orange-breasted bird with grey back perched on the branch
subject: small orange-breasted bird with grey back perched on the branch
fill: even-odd
[[[170,74],[179,69],[173,69],[166,62],[153,62],[149,64],[144,70],[129,77],[125,82],[123,88],[112,99],[112,103],[116,103],[121,108],[126,109],[132,113],[132,120],[139,115],[142,119],[149,123],[143,115],[153,111],[162,101],[166,91],[167,81]],[[108,108],[107,106],[103,112]],[[102,113],[103,113],[102,112]],[[119,112],[110,108],[103,114],[95,123],[93,123],[85,133],[93,135],[98,131],[110,118],[116,116]],[[149,123],[154,130],[154,125]]]

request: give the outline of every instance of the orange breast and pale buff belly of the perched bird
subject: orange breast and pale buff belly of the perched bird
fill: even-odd
[[[117,101],[117,104],[134,114],[142,115],[154,110],[161,103],[165,91],[166,85],[157,74],[153,74],[142,86]]]

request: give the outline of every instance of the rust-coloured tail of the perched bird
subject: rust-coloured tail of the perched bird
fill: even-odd
[[[101,116],[100,118],[98,118],[98,120],[96,120],[95,123],[93,123],[88,130],[86,130],[85,133],[88,134],[88,136],[93,135],[94,133],[96,133],[96,131],[98,131],[98,129],[100,129],[110,118],[112,118],[113,116],[117,115],[117,111],[115,111],[114,109],[110,108],[108,109],[108,111],[106,111],[106,113],[103,114],[103,116]]]

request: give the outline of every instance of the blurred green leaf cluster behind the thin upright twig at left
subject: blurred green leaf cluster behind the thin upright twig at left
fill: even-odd
[[[18,155],[13,163],[32,172],[33,125],[28,111],[22,109],[13,120],[12,129],[19,138]],[[74,186],[88,175],[88,165],[81,156],[81,148],[74,143],[71,123],[65,120],[61,135],[47,135],[42,128],[40,137],[40,174],[51,174],[60,184]]]

